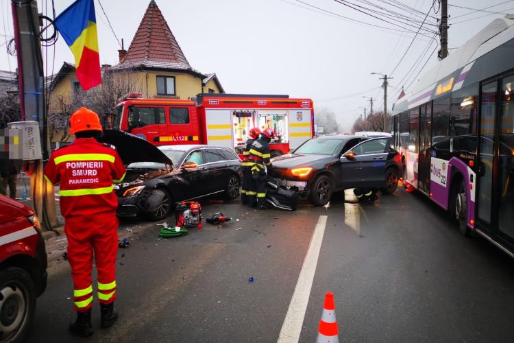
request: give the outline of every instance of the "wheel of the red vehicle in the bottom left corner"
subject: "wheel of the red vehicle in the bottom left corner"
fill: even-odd
[[[0,340],[22,342],[36,310],[34,281],[16,267],[0,272]]]

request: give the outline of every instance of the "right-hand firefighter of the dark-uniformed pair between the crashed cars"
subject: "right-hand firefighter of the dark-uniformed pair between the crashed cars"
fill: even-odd
[[[263,209],[266,203],[266,179],[267,175],[273,174],[273,165],[271,164],[271,151],[269,150],[269,142],[275,137],[275,133],[271,128],[262,131],[260,138],[250,147],[250,160],[254,163],[252,167],[252,180],[254,181],[254,189],[256,192],[257,206]],[[252,200],[253,202],[254,200]]]

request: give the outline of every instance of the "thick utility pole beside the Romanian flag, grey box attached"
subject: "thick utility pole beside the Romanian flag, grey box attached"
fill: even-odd
[[[12,0],[14,41],[18,58],[19,97],[23,121],[37,121],[41,134],[42,160],[49,156],[47,116],[45,113],[45,75],[39,39],[36,0]],[[43,178],[43,161],[30,161],[32,205],[46,230],[57,226],[56,197],[53,186]]]

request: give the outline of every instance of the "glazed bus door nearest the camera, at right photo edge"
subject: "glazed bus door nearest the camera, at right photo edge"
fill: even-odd
[[[500,91],[497,90],[500,86]],[[477,226],[514,244],[514,75],[482,85]]]

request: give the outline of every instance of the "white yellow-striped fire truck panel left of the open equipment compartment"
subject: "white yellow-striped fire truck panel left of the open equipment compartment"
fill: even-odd
[[[234,148],[232,143],[232,110],[206,109],[207,143]]]

